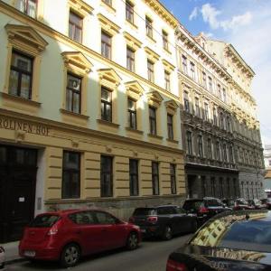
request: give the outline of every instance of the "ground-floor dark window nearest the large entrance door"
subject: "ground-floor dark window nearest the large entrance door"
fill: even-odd
[[[63,152],[62,199],[76,199],[80,196],[80,154]]]

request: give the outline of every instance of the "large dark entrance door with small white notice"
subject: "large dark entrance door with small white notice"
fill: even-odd
[[[18,240],[33,219],[37,150],[0,145],[0,242]]]

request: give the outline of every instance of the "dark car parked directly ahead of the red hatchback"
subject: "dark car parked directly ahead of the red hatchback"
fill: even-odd
[[[165,240],[177,233],[193,232],[198,228],[196,217],[176,205],[136,208],[129,221],[139,226],[145,237]]]

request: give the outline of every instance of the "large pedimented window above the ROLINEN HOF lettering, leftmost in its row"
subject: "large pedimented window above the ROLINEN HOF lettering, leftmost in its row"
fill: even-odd
[[[33,80],[33,58],[13,51],[9,75],[9,93],[31,99]]]

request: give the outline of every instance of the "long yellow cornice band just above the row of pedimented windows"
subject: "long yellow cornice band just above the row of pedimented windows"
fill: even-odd
[[[108,67],[110,67],[110,68],[122,70],[123,72],[126,73],[126,75],[130,75],[130,76],[134,77],[135,79],[138,79],[139,81],[144,82],[150,89],[158,90],[165,97],[173,98],[175,101],[179,100],[179,97],[174,95],[172,92],[170,92],[166,89],[163,89],[158,85],[155,85],[154,83],[141,77],[140,75],[136,74],[135,72],[127,70],[125,67],[119,65],[117,62],[108,60],[107,58],[105,58],[101,54],[99,54],[97,51],[93,51],[89,47],[86,47],[85,45],[83,45],[79,42],[75,42],[75,41],[71,40],[68,36],[57,32],[56,30],[52,29],[50,26],[43,24],[42,22],[40,22],[36,19],[33,19],[32,17],[27,16],[26,14],[22,14],[17,9],[15,9],[13,6],[7,5],[1,0],[0,0],[0,13],[7,14],[8,16],[18,20],[20,23],[25,23],[26,25],[33,27],[33,29],[35,31],[39,31],[40,33],[47,35],[51,39],[68,44],[70,47],[72,47],[74,49],[74,51],[81,51],[82,53],[89,55],[90,57],[93,57],[94,59],[96,59],[98,61],[106,62]]]

